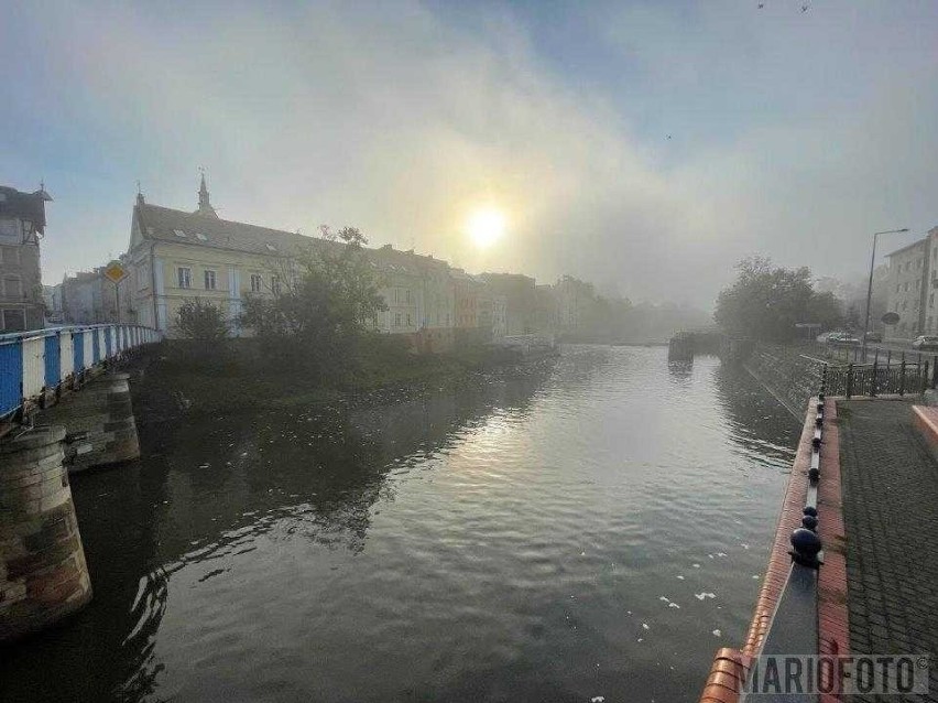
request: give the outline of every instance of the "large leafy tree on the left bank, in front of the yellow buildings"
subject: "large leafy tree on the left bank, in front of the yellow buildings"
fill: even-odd
[[[368,324],[386,306],[363,250],[364,235],[325,225],[320,234],[296,258],[279,262],[282,286],[272,296],[250,296],[241,322],[271,354],[325,376],[355,365]]]

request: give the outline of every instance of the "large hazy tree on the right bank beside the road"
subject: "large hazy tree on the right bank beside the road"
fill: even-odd
[[[713,313],[728,334],[784,342],[795,336],[796,323],[825,329],[842,324],[840,301],[832,293],[815,292],[809,269],[773,268],[762,257],[743,259],[737,269],[737,281],[720,291]]]

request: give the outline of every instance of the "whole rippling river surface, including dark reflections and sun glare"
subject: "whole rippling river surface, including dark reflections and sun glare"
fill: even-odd
[[[0,650],[0,700],[696,701],[799,428],[716,359],[576,346],[170,430],[73,480],[95,599]]]

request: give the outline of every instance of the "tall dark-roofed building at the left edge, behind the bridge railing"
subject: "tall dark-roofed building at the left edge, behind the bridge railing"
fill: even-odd
[[[51,201],[42,186],[34,193],[0,186],[0,332],[39,329],[45,322],[40,240]]]

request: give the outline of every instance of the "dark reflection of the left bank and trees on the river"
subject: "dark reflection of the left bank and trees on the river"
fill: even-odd
[[[154,656],[172,574],[217,564],[257,537],[302,537],[361,552],[388,476],[445,452],[494,412],[524,413],[549,364],[467,382],[458,393],[297,412],[146,425],[144,458],[73,482],[95,598],[46,635],[0,649],[7,701],[148,700],[165,666]],[[74,688],[72,688],[74,686]]]

